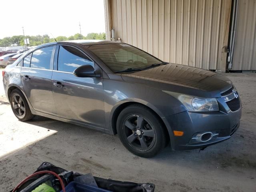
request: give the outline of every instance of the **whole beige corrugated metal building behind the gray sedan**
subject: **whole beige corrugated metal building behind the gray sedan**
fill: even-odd
[[[166,62],[256,70],[256,0],[104,0],[106,38]],[[229,50],[229,53],[228,53]]]

